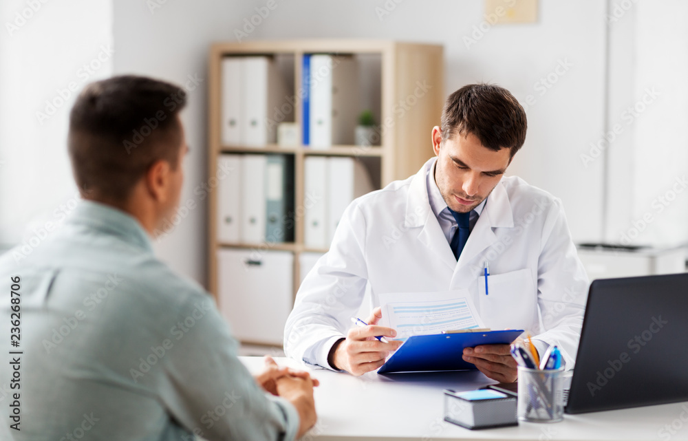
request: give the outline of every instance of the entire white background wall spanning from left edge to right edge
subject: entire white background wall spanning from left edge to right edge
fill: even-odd
[[[445,94],[466,83],[489,81],[507,87],[527,106],[526,145],[510,173],[561,197],[577,241],[619,241],[634,219],[654,210],[654,199],[685,173],[688,135],[680,131],[688,117],[684,84],[688,31],[680,22],[688,12],[685,2],[609,0],[610,9],[624,2],[632,7],[612,23],[610,102],[605,113],[605,1],[541,0],[537,23],[494,27],[486,23],[480,0],[276,1],[277,8],[253,28],[246,23],[258,11],[265,14],[267,0],[48,2],[19,32],[1,35],[0,243],[21,240],[28,219],[37,219],[32,225],[40,228],[45,219],[54,217],[60,203],[72,197],[64,142],[71,101],[43,126],[35,112],[70,81],[83,85],[80,66],[97,57],[101,45],[113,41],[114,55],[88,80],[111,72],[177,83],[185,83],[189,76],[202,79],[189,91],[189,107],[182,114],[192,149],[186,159],[182,202],[193,199],[197,208],[185,213],[178,226],[155,244],[160,257],[202,282],[206,281],[207,206],[194,190],[207,180],[208,45],[237,41],[239,31],[246,32],[242,37],[246,39],[441,43]],[[151,10],[155,4],[160,8]],[[3,23],[12,21],[25,5],[21,0],[1,2]],[[13,61],[7,63],[8,59]],[[558,65],[562,66],[559,74]],[[540,83],[548,76],[551,87]],[[642,118],[636,118],[599,158],[581,159],[652,85],[663,96]],[[681,98],[671,99],[674,96]],[[605,169],[609,170],[607,195]],[[655,171],[650,178],[647,169]],[[685,241],[687,200],[688,192],[677,197],[636,242]],[[34,233],[29,229],[28,234]]]

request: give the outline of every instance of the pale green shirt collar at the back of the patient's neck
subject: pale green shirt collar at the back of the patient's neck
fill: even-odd
[[[91,200],[80,200],[67,222],[86,226],[99,233],[117,236],[128,244],[153,252],[151,239],[138,220],[113,206]]]

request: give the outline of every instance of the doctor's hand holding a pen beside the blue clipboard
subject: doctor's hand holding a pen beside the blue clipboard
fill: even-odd
[[[382,310],[375,308],[368,317],[367,326],[353,327],[345,340],[336,343],[334,367],[360,376],[385,364],[385,358],[396,351],[403,342],[390,340],[389,343],[383,343],[375,338],[385,336],[389,339],[396,336],[396,331],[391,327],[376,325],[382,317]]]

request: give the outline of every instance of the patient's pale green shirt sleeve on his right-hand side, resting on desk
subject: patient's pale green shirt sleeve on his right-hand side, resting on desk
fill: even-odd
[[[170,335],[155,389],[178,424],[208,441],[294,440],[297,410],[255,383],[208,294],[182,305]]]

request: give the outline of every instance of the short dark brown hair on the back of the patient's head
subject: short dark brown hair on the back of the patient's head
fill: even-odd
[[[91,83],[69,114],[67,145],[81,195],[125,204],[149,167],[179,163],[181,87],[141,76]]]

